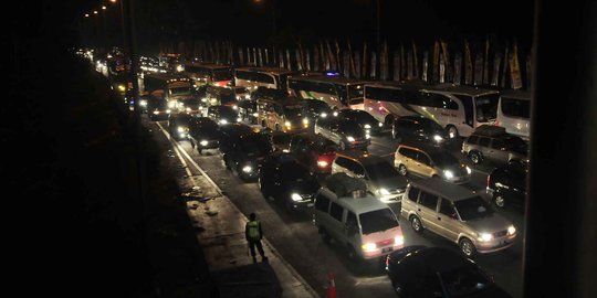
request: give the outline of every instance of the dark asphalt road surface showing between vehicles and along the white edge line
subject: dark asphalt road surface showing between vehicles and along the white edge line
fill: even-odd
[[[153,123],[144,116],[144,126],[150,129],[156,138],[165,146],[167,121]],[[329,273],[335,275],[338,297],[396,297],[389,278],[381,262],[353,263],[346,252],[332,242],[323,243],[313,225],[308,211],[290,213],[284,206],[263,198],[256,183],[247,183],[234,177],[223,167],[218,150],[207,151],[200,156],[190,147],[188,141],[179,142],[189,156],[207,172],[208,175],[224,191],[230,200],[244,213],[255,212],[261,219],[263,232],[270,243],[281,253],[296,272],[322,296],[325,296],[326,278]],[[389,134],[374,136],[368,151],[392,161],[396,142]],[[169,146],[169,145],[168,145]],[[473,169],[471,181],[467,188],[480,192],[485,190],[486,175],[490,166],[473,166],[459,151],[457,141],[450,146],[450,151]],[[422,179],[409,177],[409,179]],[[399,205],[390,205],[399,214]],[[478,255],[473,259],[494,277],[494,280],[513,297],[522,296],[522,252],[524,238],[524,219],[520,211],[499,210],[511,220],[519,231],[515,244],[502,252]],[[458,246],[430,232],[416,234],[408,221],[399,219],[405,235],[405,245],[443,246],[458,251]]]

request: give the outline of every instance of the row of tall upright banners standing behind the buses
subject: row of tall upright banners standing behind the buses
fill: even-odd
[[[160,53],[180,53],[188,61],[234,66],[276,66],[292,71],[336,71],[343,76],[363,79],[452,83],[530,89],[531,51],[520,51],[516,40],[460,44],[436,40],[419,46],[401,43],[394,49],[364,43],[322,41],[294,49],[243,47],[230,41],[180,42],[160,44]]]

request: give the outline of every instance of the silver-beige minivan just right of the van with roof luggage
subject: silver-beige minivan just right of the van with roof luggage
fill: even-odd
[[[410,182],[400,213],[415,232],[429,230],[457,243],[469,257],[505,249],[516,238],[514,225],[479,193],[440,180]]]

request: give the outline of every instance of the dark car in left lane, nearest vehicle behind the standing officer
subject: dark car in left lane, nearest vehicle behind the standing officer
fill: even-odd
[[[313,206],[320,189],[316,178],[293,156],[283,152],[263,160],[258,181],[265,199],[282,203],[289,211]]]

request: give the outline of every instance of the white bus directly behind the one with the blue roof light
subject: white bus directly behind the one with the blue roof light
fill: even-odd
[[[272,89],[287,89],[289,76],[297,74],[277,67],[239,67],[234,71],[235,86],[245,87],[249,92],[259,86]]]

